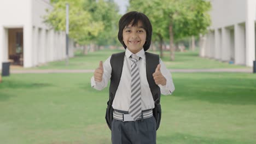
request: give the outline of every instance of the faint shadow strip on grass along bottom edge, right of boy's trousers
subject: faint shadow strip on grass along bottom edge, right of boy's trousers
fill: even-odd
[[[236,140],[229,140],[229,139],[214,139],[210,137],[200,137],[200,136],[193,136],[188,134],[181,134],[176,133],[170,136],[158,136],[157,137],[158,143],[188,143],[188,144],[241,144],[241,143],[250,143],[250,142],[241,142]]]

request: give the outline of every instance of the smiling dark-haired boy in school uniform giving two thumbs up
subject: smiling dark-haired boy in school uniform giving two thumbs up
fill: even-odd
[[[113,144],[156,143],[159,125],[156,125],[152,109],[156,101],[160,101],[160,92],[171,94],[174,85],[159,56],[146,52],[151,37],[152,25],[146,15],[137,11],[126,13],[119,20],[118,32],[125,52],[113,54],[104,64],[101,61],[91,78],[91,86],[97,90],[105,88],[111,79],[109,103],[114,109],[110,124]],[[121,61],[117,57],[121,57]],[[152,61],[153,58],[158,61]],[[152,65],[155,65],[153,71]]]

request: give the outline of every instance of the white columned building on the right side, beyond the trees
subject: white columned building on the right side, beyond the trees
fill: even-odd
[[[253,66],[256,0],[211,0],[212,25],[200,56]]]

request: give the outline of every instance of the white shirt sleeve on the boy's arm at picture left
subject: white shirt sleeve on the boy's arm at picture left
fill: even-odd
[[[103,63],[103,76],[101,82],[96,82],[94,79],[94,76],[91,77],[91,87],[97,89],[98,91],[101,91],[108,85],[108,81],[111,77],[112,67],[110,64],[110,57],[107,58],[107,60]]]

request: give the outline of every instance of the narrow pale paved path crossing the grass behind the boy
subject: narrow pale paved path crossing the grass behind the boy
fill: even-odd
[[[232,73],[252,73],[252,69],[171,69],[171,73],[214,73],[214,72],[232,72]],[[47,73],[93,73],[94,70],[65,70],[65,69],[47,69],[47,70],[10,70],[11,74],[47,74]]]

